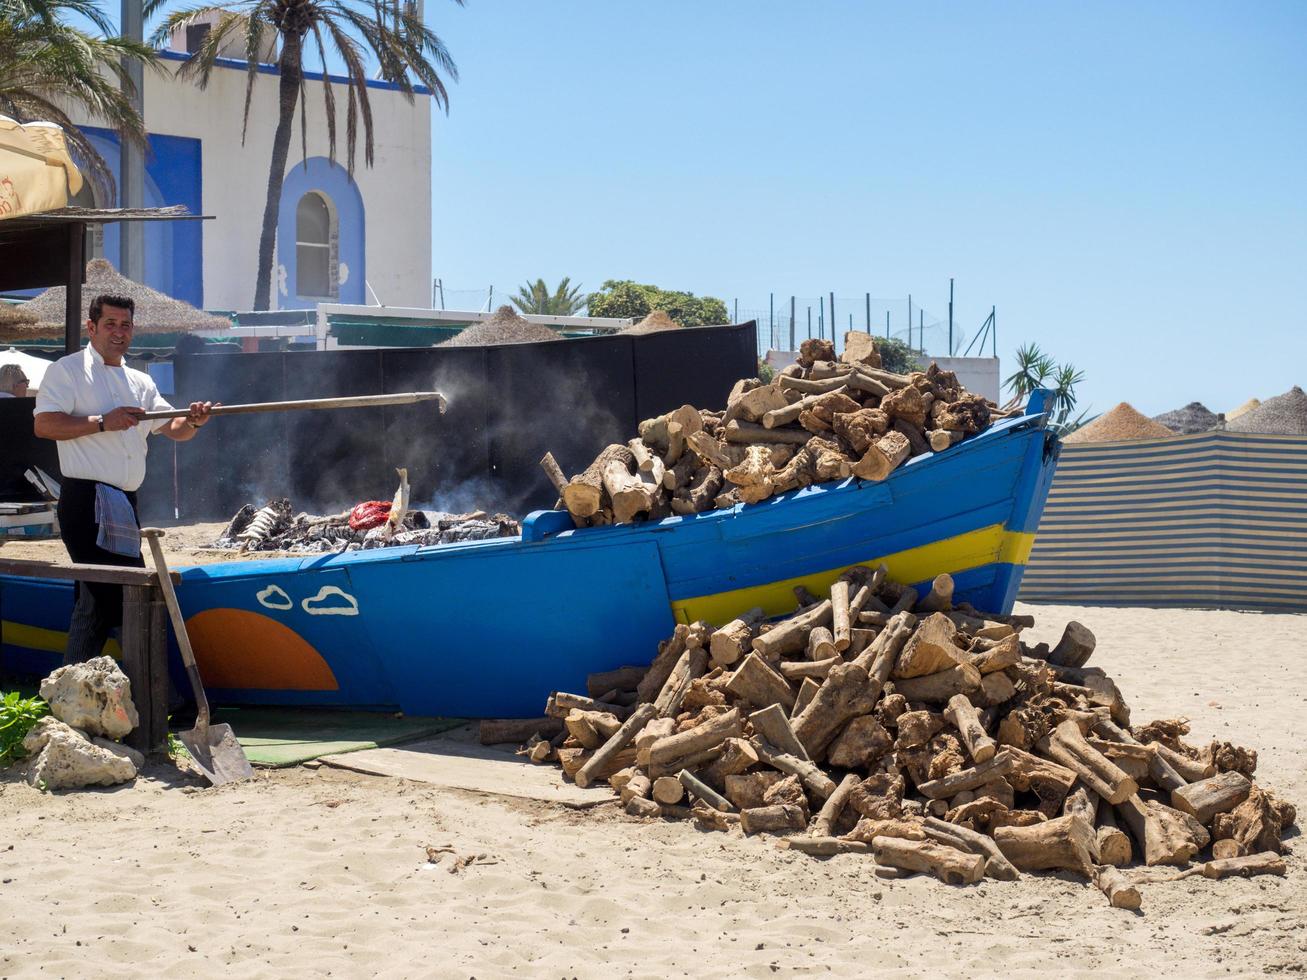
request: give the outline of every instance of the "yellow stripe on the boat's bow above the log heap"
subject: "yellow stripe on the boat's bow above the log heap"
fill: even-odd
[[[1002,524],[968,531],[965,534],[918,545],[903,551],[870,558],[861,564],[874,567],[885,564],[894,581],[924,581],[940,572],[961,572],[979,568],[995,562],[1025,564],[1035,542],[1034,533],[1006,531]],[[796,579],[770,581],[763,585],[749,585],[742,589],[718,592],[711,596],[681,598],[672,602],[672,613],[677,622],[690,623],[697,619],[720,626],[729,622],[746,609],[761,606],[767,615],[782,615],[795,609],[795,587],[802,585],[814,595],[825,595],[830,585],[848,566],[831,568]]]

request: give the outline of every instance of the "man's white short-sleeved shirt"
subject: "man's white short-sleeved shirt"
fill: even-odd
[[[52,363],[41,380],[34,414],[103,416],[120,405],[148,412],[173,408],[159,395],[154,379],[132,367],[110,367],[89,344],[77,354]],[[146,440],[169,425],[159,418],[120,433],[93,433],[59,440],[59,469],[65,477],[95,480],[120,490],[136,490],[145,480]]]

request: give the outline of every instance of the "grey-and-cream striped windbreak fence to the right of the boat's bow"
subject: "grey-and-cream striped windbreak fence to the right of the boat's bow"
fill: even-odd
[[[1307,436],[1064,444],[1019,597],[1307,610]]]

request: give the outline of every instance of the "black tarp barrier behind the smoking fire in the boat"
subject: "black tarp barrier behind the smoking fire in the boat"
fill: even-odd
[[[754,344],[749,323],[497,348],[178,354],[178,406],[431,388],[450,406],[443,417],[426,402],[217,418],[178,447],[175,491],[173,444],[152,440],[141,517],[170,519],[175,500],[183,520],[225,520],[272,497],[324,514],[388,499],[396,466],[409,470],[413,506],[549,507],[546,451],[574,473],[609,442],[634,436],[642,418],[682,404],[723,406],[731,385],[755,372]],[[5,447],[7,465],[10,455]]]

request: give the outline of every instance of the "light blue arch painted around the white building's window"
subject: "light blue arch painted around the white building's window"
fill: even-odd
[[[363,265],[365,214],[363,196],[349,172],[327,157],[310,157],[286,174],[281,186],[281,209],[277,216],[277,263],[286,270],[277,272],[277,306],[282,310],[311,310],[324,297],[302,297],[295,293],[295,205],[310,191],[331,200],[339,233],[339,259],[345,281],[340,284],[337,303],[365,303]]]

